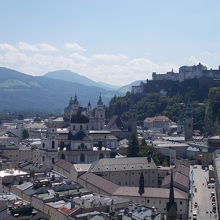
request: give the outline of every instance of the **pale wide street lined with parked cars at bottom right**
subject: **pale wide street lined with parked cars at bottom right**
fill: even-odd
[[[195,210],[197,211],[197,219],[218,219],[217,210],[216,213],[212,212],[211,192],[215,192],[215,189],[208,188],[208,175],[209,172],[203,170],[200,165],[194,165],[190,167],[190,180],[191,183],[193,183],[193,185],[191,185],[193,196],[189,203],[189,218],[191,217],[191,219],[193,219],[192,214]],[[195,188],[197,191],[195,190]],[[195,206],[196,202],[198,203],[198,207]]]

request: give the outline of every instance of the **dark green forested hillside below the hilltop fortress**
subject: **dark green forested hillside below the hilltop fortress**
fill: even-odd
[[[220,112],[217,113],[217,110],[213,110],[213,108],[218,108],[218,104],[220,104],[220,99],[218,99],[220,87],[212,88],[214,85],[211,82],[204,83],[197,79],[186,80],[182,83],[149,81],[145,84],[145,92],[141,95],[133,95],[128,92],[125,96],[114,96],[109,103],[107,115],[111,117],[118,114],[127,119],[129,109],[136,105],[137,119],[140,124],[146,117],[155,115],[166,115],[171,120],[178,122],[184,120],[186,106],[190,104],[194,116],[194,129],[204,131],[204,119],[209,118],[211,125],[216,124],[216,128],[212,131],[216,133],[219,130],[217,125],[219,125]],[[166,96],[160,94],[162,90],[166,91]],[[218,111],[219,109],[220,106]]]

